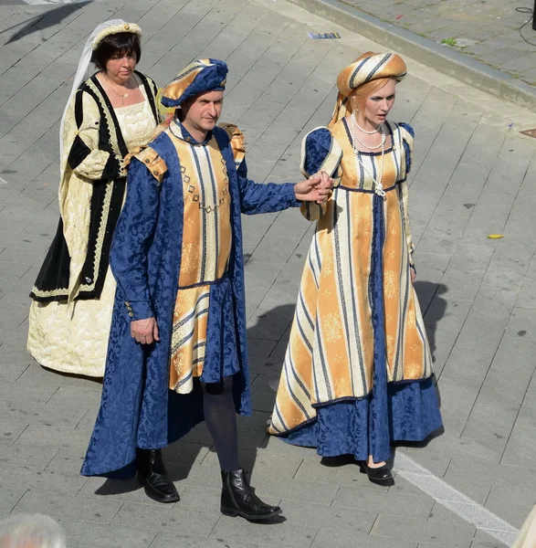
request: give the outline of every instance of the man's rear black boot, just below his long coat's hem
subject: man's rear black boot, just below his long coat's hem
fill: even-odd
[[[138,479],[148,497],[157,502],[180,501],[163,464],[162,449],[137,449],[136,461]]]

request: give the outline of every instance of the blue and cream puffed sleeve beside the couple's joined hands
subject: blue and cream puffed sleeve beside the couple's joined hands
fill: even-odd
[[[301,142],[300,171],[305,177],[325,171],[334,179],[333,186],[339,184],[342,160],[341,145],[333,138],[328,128],[316,128],[309,132]],[[301,204],[301,214],[310,221],[316,221],[324,215],[327,202]]]

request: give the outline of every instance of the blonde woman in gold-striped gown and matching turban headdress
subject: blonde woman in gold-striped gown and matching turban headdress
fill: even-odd
[[[268,432],[323,457],[352,454],[392,482],[394,440],[442,426],[413,281],[407,174],[413,129],[386,120],[402,58],[365,53],[342,70],[328,128],[302,144],[301,170],[338,185],[317,220]]]

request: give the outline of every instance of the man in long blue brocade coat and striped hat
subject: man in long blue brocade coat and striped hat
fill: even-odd
[[[81,473],[130,478],[155,501],[179,495],[161,448],[205,419],[222,470],[221,511],[265,520],[238,463],[236,413],[250,415],[240,216],[321,203],[331,180],[247,179],[236,126],[216,126],[227,67],[195,61],[163,90],[169,127],[132,161],[110,251],[118,289],[99,416]]]

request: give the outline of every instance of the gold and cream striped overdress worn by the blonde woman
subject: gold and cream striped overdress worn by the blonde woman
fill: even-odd
[[[338,168],[342,179],[318,221],[303,270],[269,428],[272,434],[312,420],[316,406],[369,395],[374,364],[382,353],[389,382],[421,380],[432,374],[425,325],[410,277],[405,179],[413,137],[404,126],[389,127],[393,146],[384,155],[384,200],[374,194],[367,173],[379,173],[381,155],[361,153],[363,169],[353,154],[346,121],[331,129],[342,147]],[[312,143],[309,151],[308,146],[306,140],[304,152],[311,155],[313,148],[322,150],[318,143]],[[311,173],[314,169],[310,167]],[[305,209],[302,212],[308,215]],[[382,237],[378,261],[373,249]],[[383,288],[382,295],[376,294],[378,287]],[[383,348],[374,332],[374,310],[382,311]]]

